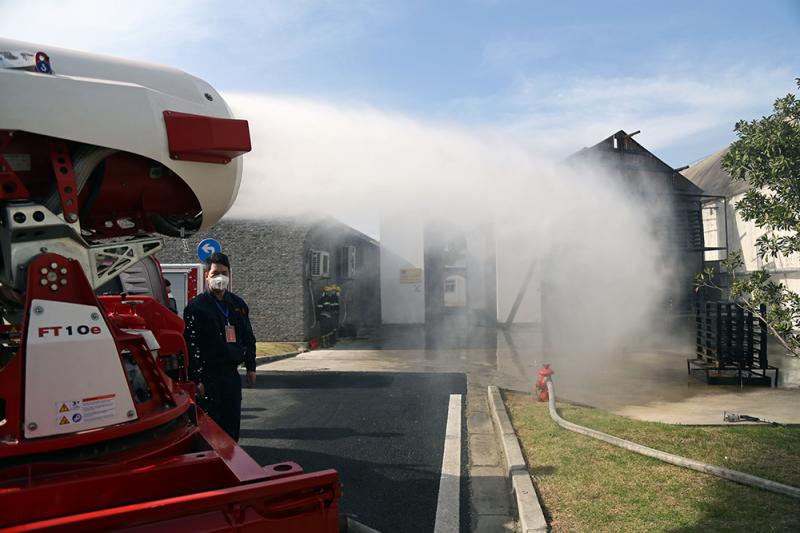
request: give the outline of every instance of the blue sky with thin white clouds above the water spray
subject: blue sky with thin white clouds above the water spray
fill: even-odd
[[[555,157],[640,129],[675,167],[800,76],[800,0],[0,0],[0,14],[6,37],[182,68],[251,123],[241,95]]]

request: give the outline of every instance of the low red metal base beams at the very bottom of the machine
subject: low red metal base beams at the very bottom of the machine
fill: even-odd
[[[131,460],[128,451],[103,457],[101,463],[45,463],[4,471],[0,503],[17,512],[0,515],[0,527],[214,531],[222,519],[227,523],[223,530],[235,524],[257,525],[254,531],[338,531],[341,485],[335,471],[304,474],[294,463],[261,468],[202,411],[197,425],[174,433],[174,441],[161,439],[170,442],[172,453]],[[182,453],[175,453],[175,443],[185,447]]]

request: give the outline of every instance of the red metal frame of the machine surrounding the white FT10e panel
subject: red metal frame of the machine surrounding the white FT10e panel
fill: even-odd
[[[58,272],[67,283],[58,282],[57,290],[42,285],[40,280],[47,279],[43,269]],[[25,322],[16,327],[24,333],[22,344],[0,369],[0,395],[6,400],[6,423],[0,426],[0,529],[338,531],[341,485],[335,471],[306,474],[294,463],[259,466],[197,408],[193,384],[173,383],[142,337],[121,331],[106,317],[118,351],[132,352],[153,399],[136,405],[135,421],[25,439],[24,326],[32,300],[95,305],[110,312],[128,305],[130,310],[120,297],[103,297],[101,307],[79,263],[56,254],[31,261],[26,298]],[[158,302],[137,300],[142,303],[136,313],[148,327],[182,331],[179,319]]]

